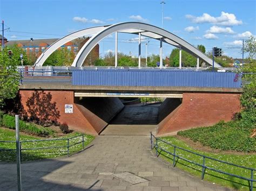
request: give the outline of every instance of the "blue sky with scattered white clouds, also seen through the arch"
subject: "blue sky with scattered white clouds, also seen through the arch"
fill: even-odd
[[[256,1],[246,0],[165,0],[164,29],[206,51],[223,48],[225,54],[241,58],[241,40],[256,35]],[[161,27],[160,1],[78,1],[78,0],[1,0],[0,19],[4,20],[5,37],[16,39],[61,38],[86,27],[138,21]],[[120,52],[138,55],[137,36],[120,34]],[[145,43],[142,56],[145,56]],[[172,46],[164,44],[169,56]],[[114,50],[114,35],[100,43],[100,56]],[[159,54],[159,42],[151,40],[149,54]]]

